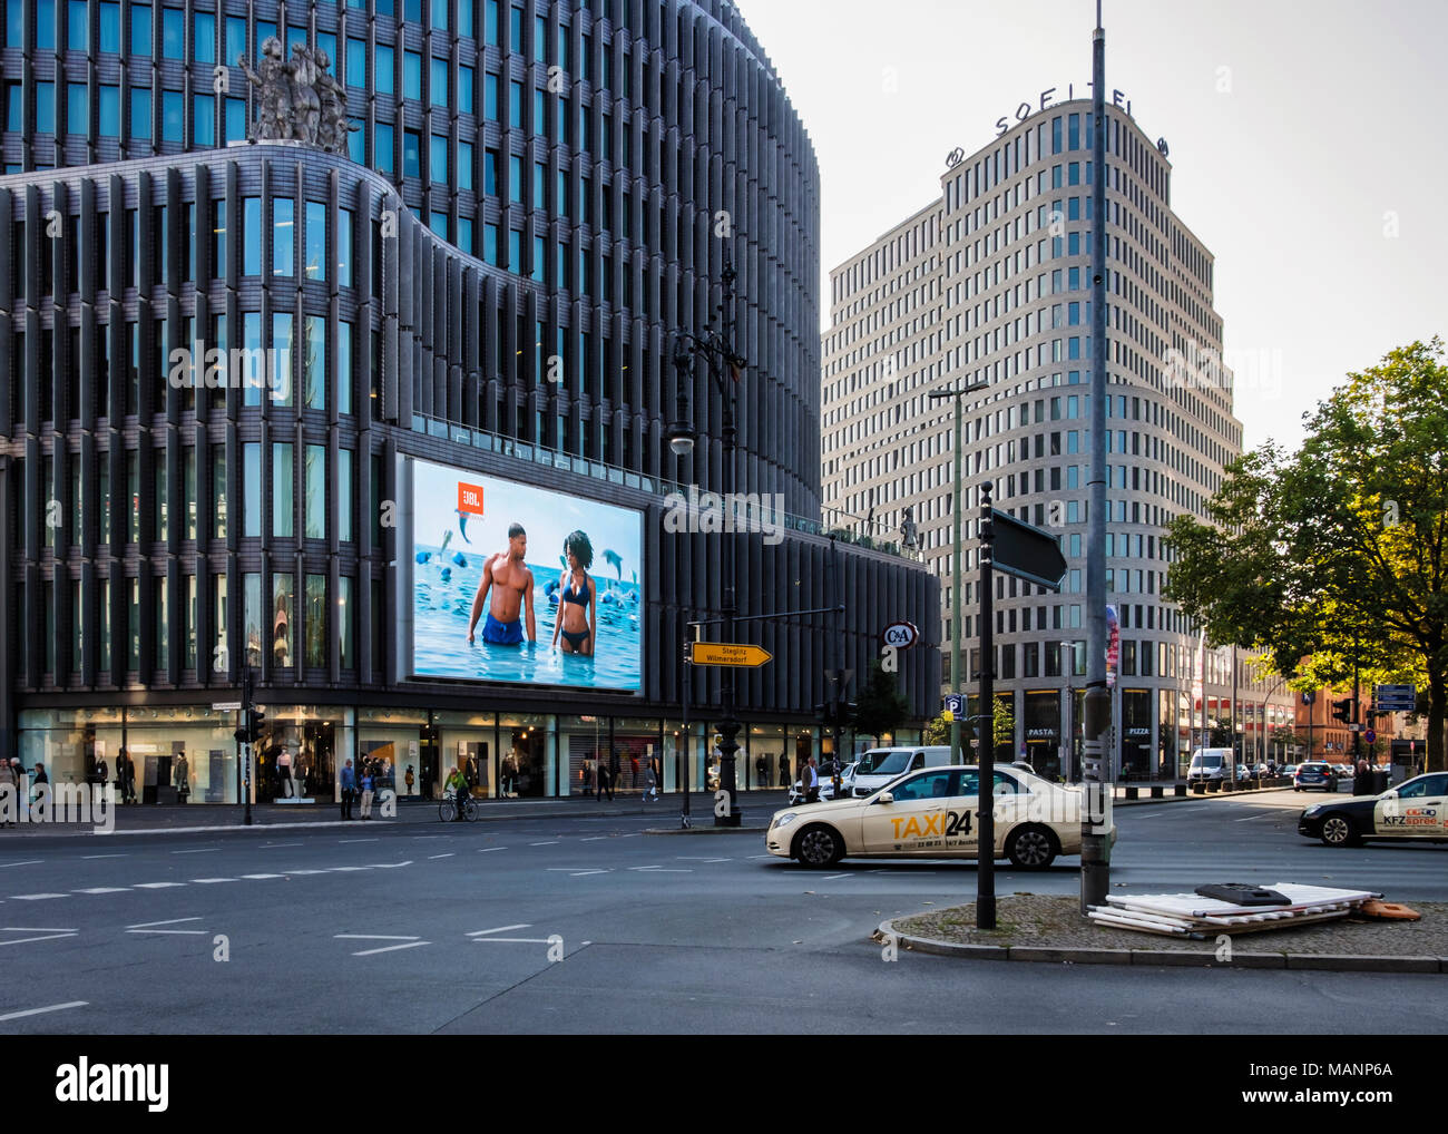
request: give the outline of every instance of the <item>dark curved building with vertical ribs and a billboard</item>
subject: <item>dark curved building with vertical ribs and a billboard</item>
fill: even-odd
[[[727,3],[4,13],[0,752],[83,779],[126,747],[158,799],[185,755],[191,801],[235,801],[217,705],[249,671],[264,797],[281,747],[327,797],[368,755],[418,791],[469,762],[488,794],[578,792],[613,756],[624,786],[634,759],[701,784],[678,659],[733,552],[741,613],[782,616],[747,639],[776,660],[740,684],[743,786],[818,750],[825,668],[937,624],[928,572],[820,523],[818,169]],[[246,140],[237,61],[271,38],[326,52],[349,154]],[[670,492],[723,482],[702,365],[694,455],[666,430],[672,336],[718,324],[727,264],[734,484],[778,508],[736,539],[666,524]],[[500,653],[469,614],[514,524],[537,636]],[[552,644],[571,529],[597,552],[588,659]],[[937,658],[901,665],[921,715]],[[717,697],[699,675],[695,711]]]

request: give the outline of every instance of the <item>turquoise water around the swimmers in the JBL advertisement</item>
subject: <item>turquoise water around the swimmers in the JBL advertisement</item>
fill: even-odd
[[[521,681],[539,685],[582,685],[599,689],[639,689],[641,634],[639,629],[643,595],[631,581],[610,579],[589,571],[598,592],[598,642],[594,655],[563,653],[553,649],[557,617],[559,581],[563,565],[530,562],[533,572],[533,621],[537,642],[524,637],[518,646],[495,646],[482,640],[488,618],[487,604],[468,643],[468,616],[478,592],[482,568],[491,555],[502,550],[462,555],[466,566],[453,560],[456,543],[449,547],[414,545],[413,562],[413,672],[418,676],[460,678],[471,681]],[[530,549],[531,550],[531,549]],[[418,563],[417,558],[426,556]],[[598,560],[594,560],[598,565]],[[608,565],[605,563],[605,568]],[[446,571],[446,578],[443,572]],[[610,574],[613,569],[610,568]],[[549,594],[547,591],[552,591]],[[524,634],[527,620],[524,618]]]

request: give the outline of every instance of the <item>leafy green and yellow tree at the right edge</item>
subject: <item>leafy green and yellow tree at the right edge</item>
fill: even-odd
[[[1448,714],[1448,365],[1444,343],[1389,353],[1318,406],[1293,455],[1237,461],[1167,530],[1166,597],[1213,646],[1263,652],[1295,689],[1428,688],[1428,768]]]

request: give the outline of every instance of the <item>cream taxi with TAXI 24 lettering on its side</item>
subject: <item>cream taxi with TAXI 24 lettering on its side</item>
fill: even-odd
[[[980,773],[975,766],[928,768],[901,776],[863,799],[776,811],[765,836],[770,854],[802,866],[851,857],[976,857]],[[1079,854],[1082,789],[1051,784],[1019,768],[995,770],[995,850],[1027,870],[1057,854]],[[1116,839],[1109,797],[1093,815]]]

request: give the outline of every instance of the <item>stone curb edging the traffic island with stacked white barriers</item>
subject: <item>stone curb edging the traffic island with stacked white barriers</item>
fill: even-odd
[[[1448,957],[1357,956],[1348,953],[1237,953],[1218,960],[1215,952],[1187,953],[1176,949],[1057,949],[1051,946],[972,946],[912,937],[882,921],[870,940],[892,940],[912,953],[931,953],[960,960],[1019,960],[1051,965],[1156,965],[1202,969],[1281,969],[1341,973],[1448,973]]]

